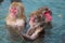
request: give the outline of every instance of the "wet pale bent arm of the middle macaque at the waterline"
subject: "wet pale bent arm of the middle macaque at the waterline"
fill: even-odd
[[[42,28],[37,29],[31,35],[24,34],[24,33],[22,33],[22,35],[27,40],[34,41],[35,39],[37,39],[39,37],[39,32],[41,32],[41,30],[42,30]]]

